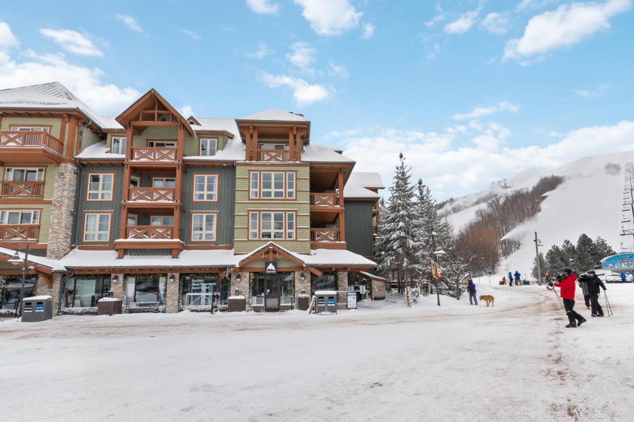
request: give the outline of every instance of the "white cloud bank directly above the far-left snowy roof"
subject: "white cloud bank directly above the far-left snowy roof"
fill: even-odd
[[[118,114],[141,96],[131,87],[119,88],[103,82],[105,73],[99,68],[72,65],[63,54],[25,52],[25,61],[0,59],[0,88],[10,88],[60,81],[95,112]]]

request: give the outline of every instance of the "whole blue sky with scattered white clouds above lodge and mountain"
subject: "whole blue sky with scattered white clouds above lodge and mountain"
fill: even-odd
[[[150,87],[197,117],[302,112],[312,142],[437,198],[634,148],[632,0],[235,0],[0,11],[0,88],[60,80],[118,114]]]

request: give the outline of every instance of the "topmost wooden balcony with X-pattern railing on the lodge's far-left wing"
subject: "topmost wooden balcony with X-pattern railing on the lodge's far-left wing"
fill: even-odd
[[[0,163],[60,163],[63,151],[46,131],[0,131]]]

